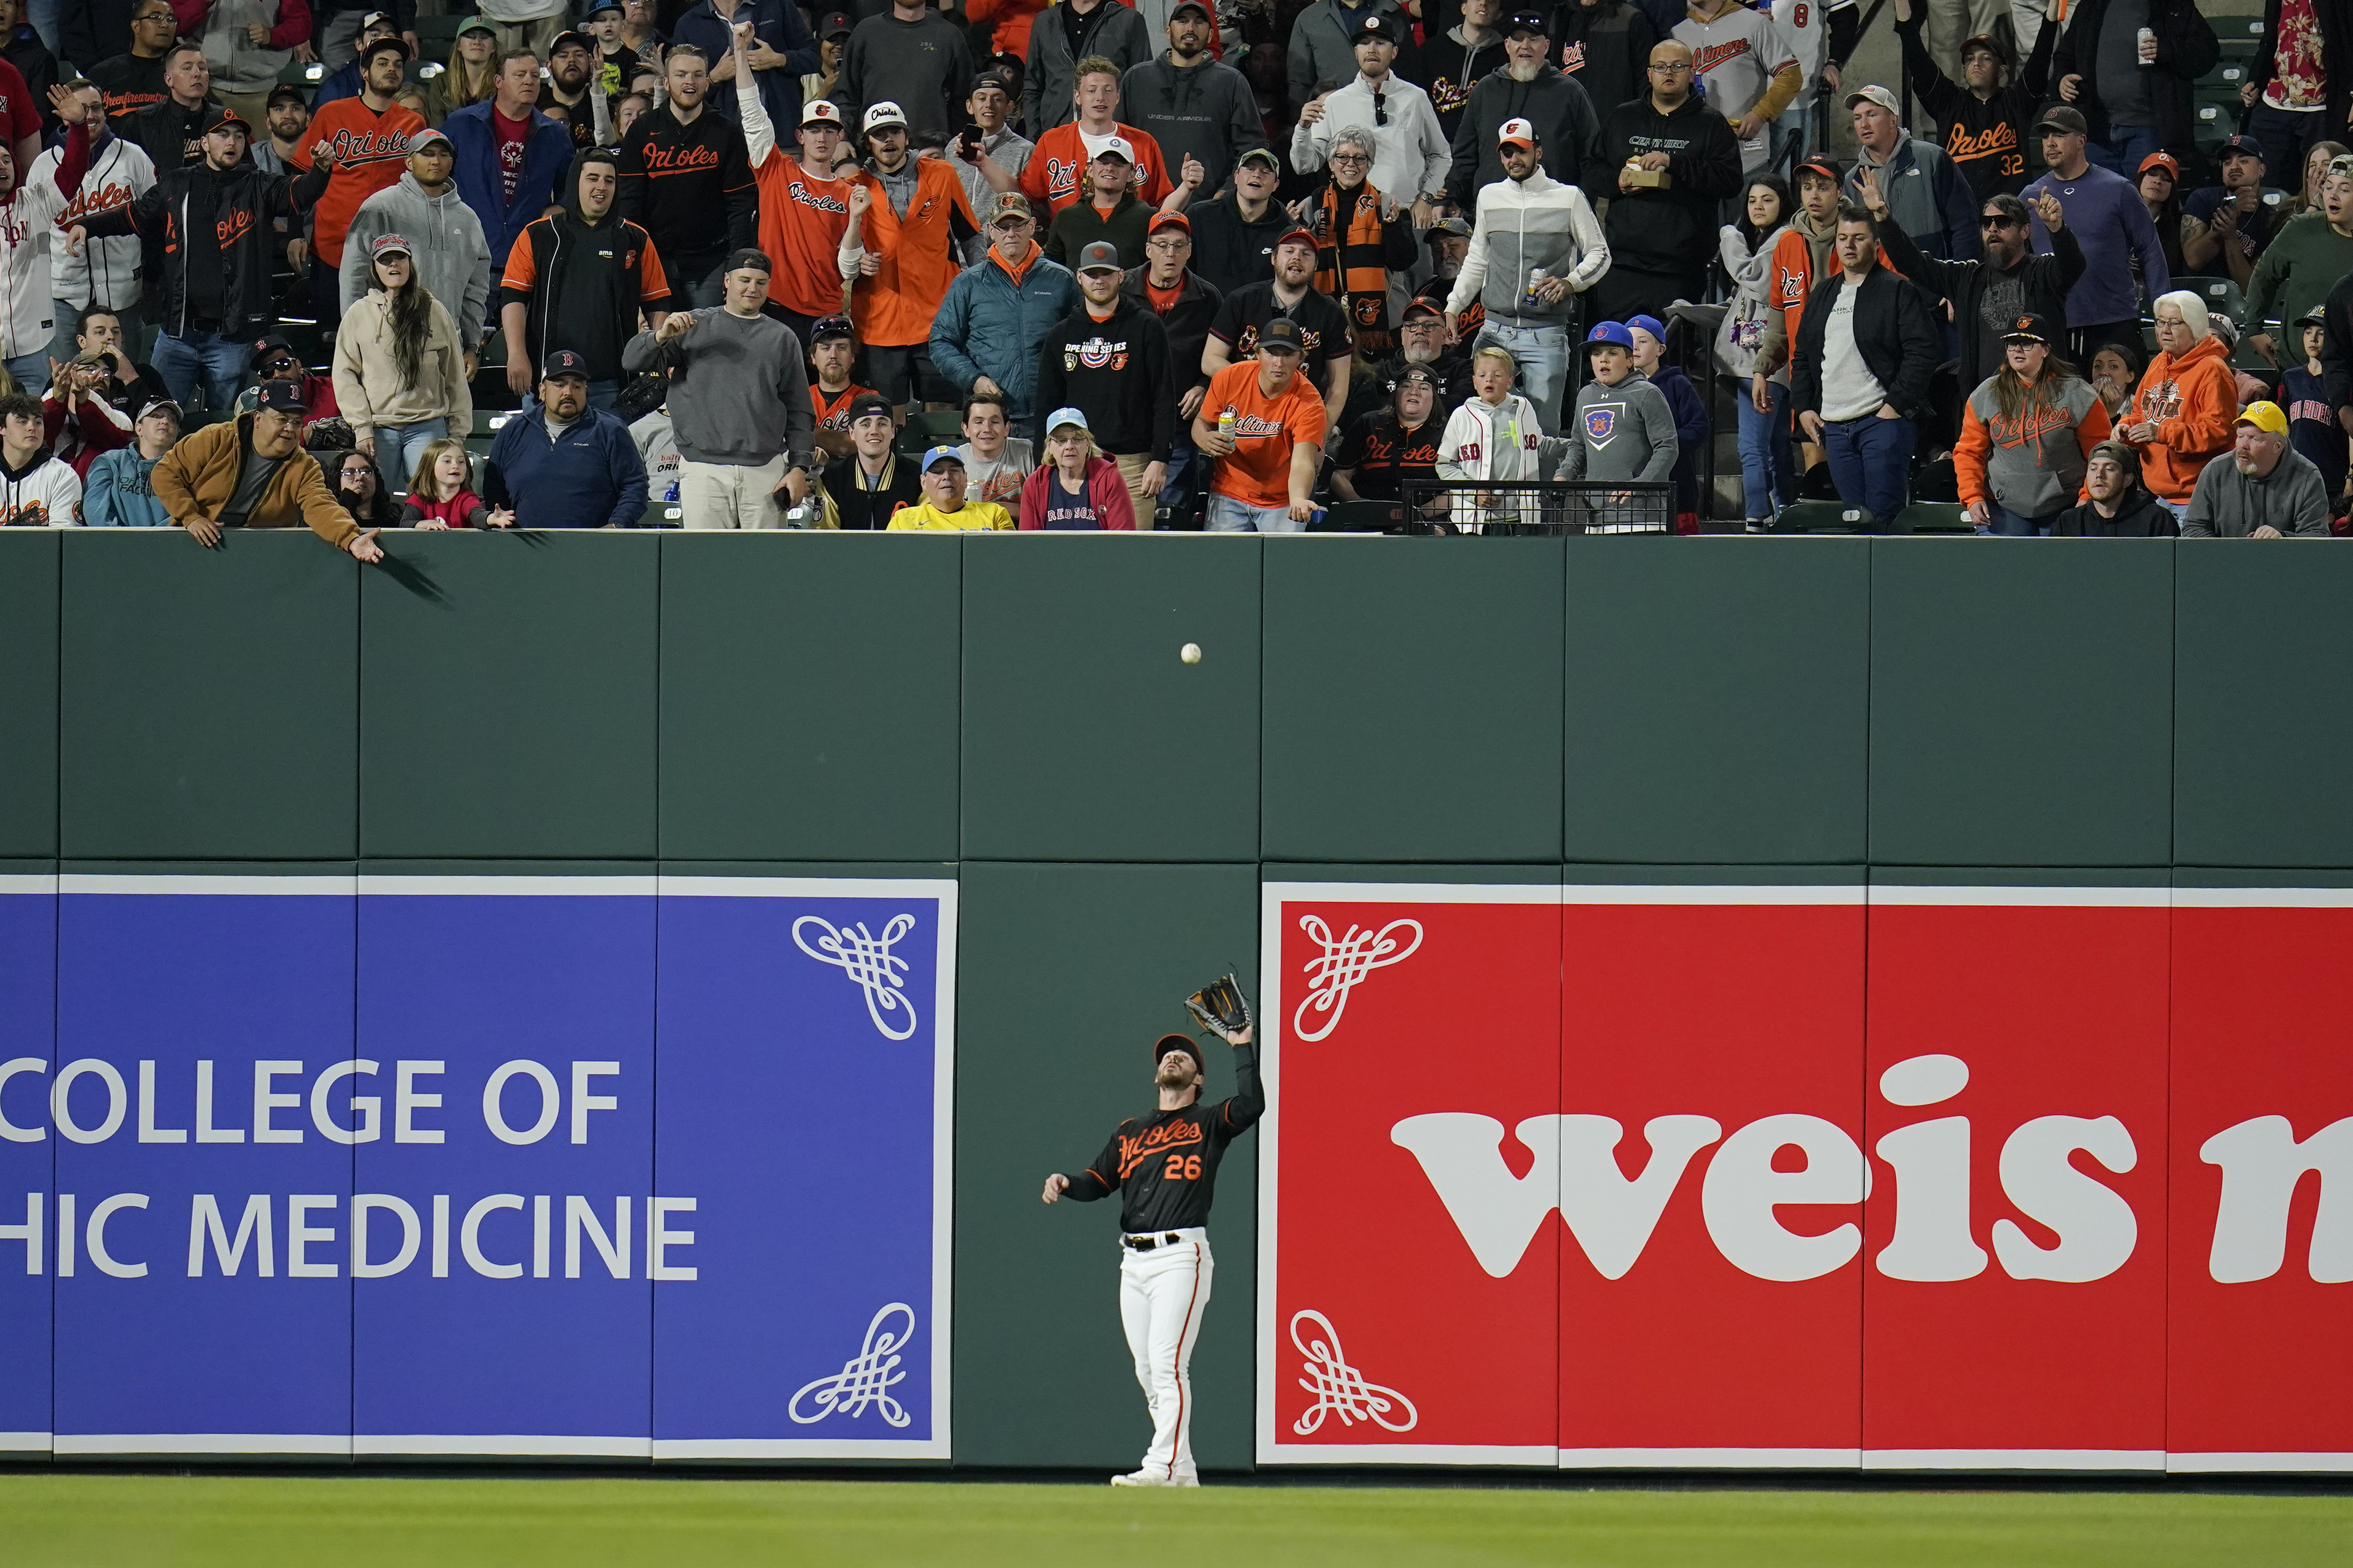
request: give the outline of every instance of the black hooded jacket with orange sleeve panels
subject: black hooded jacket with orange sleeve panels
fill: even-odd
[[[621,346],[638,331],[640,306],[668,308],[671,289],[642,228],[619,209],[595,221],[581,214],[581,167],[588,160],[591,153],[581,153],[565,174],[565,209],[534,219],[515,237],[515,249],[525,254],[506,259],[506,277],[520,273],[529,284],[508,282],[506,301],[529,310],[522,339],[532,364],[569,348],[588,360],[591,381],[619,381]]]

